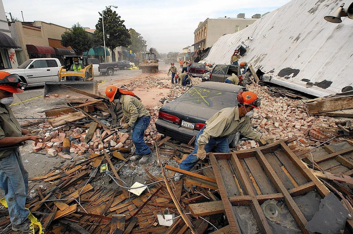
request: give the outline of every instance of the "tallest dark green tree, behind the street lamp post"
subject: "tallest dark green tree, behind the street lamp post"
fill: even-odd
[[[103,45],[103,25],[102,25],[102,13],[99,12],[101,16],[96,24],[96,43]],[[106,41],[106,47],[112,51],[112,60],[115,61],[114,49],[119,46],[127,47],[131,44],[131,36],[129,31],[124,25],[125,20],[112,11],[112,9],[107,8],[104,11],[104,39]],[[109,35],[109,38],[107,37]]]

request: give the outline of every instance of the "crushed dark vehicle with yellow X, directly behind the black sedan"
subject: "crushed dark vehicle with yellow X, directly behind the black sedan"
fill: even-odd
[[[202,77],[202,81],[224,82],[232,73],[239,76],[239,74],[241,74],[240,67],[230,64],[217,64],[214,66],[211,73],[205,73]]]

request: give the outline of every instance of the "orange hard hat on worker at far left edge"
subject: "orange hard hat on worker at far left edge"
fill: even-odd
[[[27,85],[21,82],[17,74],[0,72],[0,89],[10,93],[22,93]]]

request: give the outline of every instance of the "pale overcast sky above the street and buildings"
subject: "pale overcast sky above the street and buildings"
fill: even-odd
[[[65,27],[79,22],[83,27],[95,29],[98,11],[116,5],[116,12],[125,20],[126,28],[133,28],[147,41],[148,48],[159,52],[181,51],[194,43],[193,32],[200,21],[207,18],[237,17],[245,13],[251,18],[286,4],[289,0],[2,0],[5,12],[25,21],[41,20]],[[7,16],[9,17],[9,16]],[[175,48],[175,49],[174,49]]]

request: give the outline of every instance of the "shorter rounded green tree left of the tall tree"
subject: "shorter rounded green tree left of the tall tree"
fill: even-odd
[[[62,33],[61,44],[64,47],[71,46],[77,55],[92,48],[91,38],[79,23],[72,25],[72,30]]]

